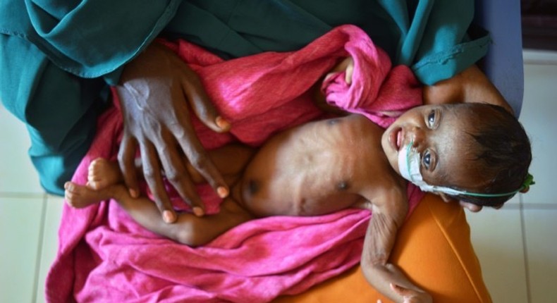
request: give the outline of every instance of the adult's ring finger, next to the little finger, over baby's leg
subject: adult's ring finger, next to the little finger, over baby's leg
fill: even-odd
[[[157,152],[150,142],[141,142],[141,161],[143,164],[143,177],[147,181],[147,185],[154,196],[154,202],[161,212],[162,218],[166,223],[176,221],[176,212],[174,211],[164,189],[164,183],[161,176],[161,167],[157,159]]]

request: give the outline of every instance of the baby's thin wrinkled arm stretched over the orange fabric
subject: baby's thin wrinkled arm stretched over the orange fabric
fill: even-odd
[[[396,241],[400,225],[404,223],[408,212],[408,200],[405,188],[385,189],[372,201],[372,218],[365,235],[362,252],[362,271],[367,281],[379,292],[394,302],[403,302],[403,297],[394,292],[390,285],[398,285],[408,290],[412,302],[431,302],[431,296],[416,285],[413,285],[398,267],[388,263],[388,258]],[[370,193],[373,194],[373,193]]]

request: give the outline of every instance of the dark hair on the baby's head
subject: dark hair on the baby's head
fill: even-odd
[[[461,105],[475,113],[474,123],[467,128],[467,135],[473,138],[467,157],[472,159],[472,163],[477,163],[473,169],[486,177],[478,180],[474,192],[511,194],[503,197],[460,194],[453,198],[480,206],[501,206],[517,190],[523,189],[532,162],[530,139],[518,118],[501,106],[480,103]]]

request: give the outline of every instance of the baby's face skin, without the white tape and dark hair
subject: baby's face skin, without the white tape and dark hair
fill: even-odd
[[[393,169],[400,174],[398,153],[413,142],[420,154],[420,172],[429,185],[458,184],[474,187],[475,176],[467,173],[466,126],[470,111],[451,105],[426,105],[410,109],[381,138],[381,146]]]

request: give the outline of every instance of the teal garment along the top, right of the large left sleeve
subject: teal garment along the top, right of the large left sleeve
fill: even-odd
[[[474,1],[184,2],[163,32],[224,58],[292,51],[343,24],[361,27],[396,64],[427,85],[451,78],[485,56],[489,36],[470,40]]]

